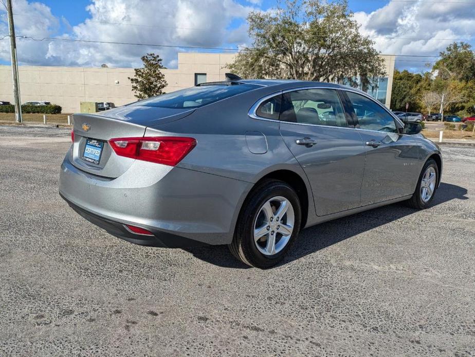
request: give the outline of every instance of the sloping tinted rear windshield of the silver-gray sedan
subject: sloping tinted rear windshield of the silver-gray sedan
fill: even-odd
[[[257,88],[259,86],[253,84],[205,85],[145,99],[137,104],[160,108],[198,108]]]

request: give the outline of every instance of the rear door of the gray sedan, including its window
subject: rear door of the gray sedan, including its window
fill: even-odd
[[[280,132],[305,171],[319,216],[359,207],[363,146],[336,90],[308,88],[282,96]]]

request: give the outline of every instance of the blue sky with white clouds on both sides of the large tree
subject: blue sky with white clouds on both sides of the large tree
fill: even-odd
[[[177,52],[192,50],[185,46],[249,44],[247,13],[276,6],[276,0],[13,0],[16,33],[27,37],[17,41],[20,63],[68,66],[135,67],[141,55],[154,51],[172,68]],[[349,6],[360,32],[375,41],[378,51],[399,55],[396,67],[400,69],[427,70],[425,63],[435,61],[433,56],[455,40],[474,44],[475,0],[350,0]],[[8,33],[1,7],[0,15],[0,34]],[[0,62],[9,63],[9,58],[8,39],[4,39]]]

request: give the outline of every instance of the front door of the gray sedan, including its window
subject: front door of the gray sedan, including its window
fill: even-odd
[[[361,203],[370,205],[412,194],[418,177],[419,142],[369,96],[344,91],[356,131],[366,148]]]

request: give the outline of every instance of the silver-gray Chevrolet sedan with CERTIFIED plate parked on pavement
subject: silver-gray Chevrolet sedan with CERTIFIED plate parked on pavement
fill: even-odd
[[[59,191],[119,238],[228,244],[264,269],[305,227],[399,201],[428,207],[442,156],[420,130],[338,84],[205,83],[76,114]]]

